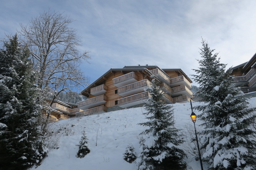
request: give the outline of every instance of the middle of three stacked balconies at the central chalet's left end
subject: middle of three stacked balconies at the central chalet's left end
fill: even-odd
[[[107,102],[107,96],[101,95],[101,96],[97,96],[97,97],[87,99],[87,100],[82,101],[82,102],[78,102],[78,108],[86,110],[86,109],[89,109],[90,107],[103,105],[106,102]]]

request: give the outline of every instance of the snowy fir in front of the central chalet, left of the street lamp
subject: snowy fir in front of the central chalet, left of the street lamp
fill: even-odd
[[[183,158],[186,156],[179,147],[183,143],[179,130],[175,128],[174,111],[162,101],[164,93],[158,87],[158,81],[152,80],[147,90],[150,94],[145,113],[148,119],[140,125],[146,130],[140,135],[139,170],[182,170],[186,168]]]

